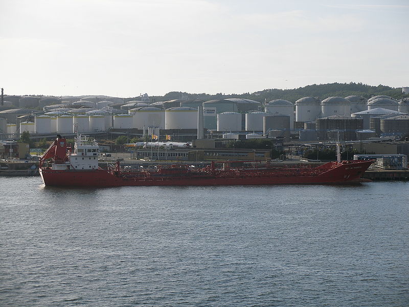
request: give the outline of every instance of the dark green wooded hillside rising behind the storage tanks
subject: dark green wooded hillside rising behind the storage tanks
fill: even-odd
[[[167,101],[172,99],[181,100],[213,100],[213,99],[225,99],[225,98],[245,98],[259,102],[271,101],[274,99],[285,99],[291,102],[296,102],[298,99],[312,96],[319,97],[321,100],[332,97],[340,96],[347,97],[351,95],[358,95],[365,98],[371,98],[376,95],[387,95],[396,99],[402,98],[402,90],[400,87],[394,88],[387,85],[372,86],[363,83],[327,83],[327,84],[312,84],[298,89],[281,90],[281,89],[267,89],[254,93],[243,94],[223,94],[218,93],[210,95],[206,93],[190,94],[186,92],[169,92],[164,96],[151,96],[152,102],[155,101]]]

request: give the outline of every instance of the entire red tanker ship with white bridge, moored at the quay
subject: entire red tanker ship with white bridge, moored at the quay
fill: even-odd
[[[102,169],[98,166],[98,148],[98,143],[86,136],[78,135],[74,148],[58,136],[40,159],[44,184],[73,187],[343,184],[360,182],[373,162],[353,160],[317,167],[278,167],[255,161],[213,161],[202,168],[176,164],[159,165],[154,170],[124,169],[117,162]]]

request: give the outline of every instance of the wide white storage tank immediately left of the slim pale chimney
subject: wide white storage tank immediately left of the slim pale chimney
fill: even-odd
[[[187,106],[166,109],[165,129],[197,129],[197,109]]]

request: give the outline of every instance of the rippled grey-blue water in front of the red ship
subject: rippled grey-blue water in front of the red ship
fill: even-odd
[[[409,305],[409,183],[0,187],[1,306]]]

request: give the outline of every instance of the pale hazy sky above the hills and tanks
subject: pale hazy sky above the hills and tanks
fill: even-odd
[[[409,86],[409,1],[0,0],[5,94]]]

